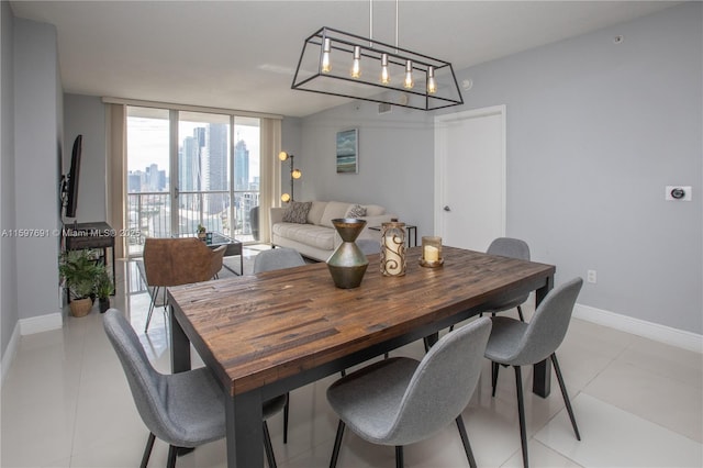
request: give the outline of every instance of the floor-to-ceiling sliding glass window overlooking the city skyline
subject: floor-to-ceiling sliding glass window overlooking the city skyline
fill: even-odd
[[[241,242],[258,237],[260,119],[127,107],[126,221],[143,238],[199,225]]]

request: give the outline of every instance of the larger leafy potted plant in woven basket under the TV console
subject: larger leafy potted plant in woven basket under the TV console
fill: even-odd
[[[59,257],[58,274],[68,290],[70,313],[85,316],[92,308],[96,278],[104,267],[96,264],[89,250],[66,250]]]

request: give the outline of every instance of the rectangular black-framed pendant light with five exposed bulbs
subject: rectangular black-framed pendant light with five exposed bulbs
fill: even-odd
[[[305,40],[291,88],[423,111],[464,103],[450,63],[326,26]]]

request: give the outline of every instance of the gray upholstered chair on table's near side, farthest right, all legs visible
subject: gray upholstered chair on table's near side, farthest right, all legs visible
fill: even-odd
[[[563,403],[569,413],[573,433],[581,439],[576,424],[569,394],[557,361],[556,349],[567,334],[576,299],[579,296],[583,280],[574,278],[551,291],[542,301],[529,323],[520,322],[506,316],[491,317],[493,330],[486,348],[486,357],[493,361],[492,386],[495,395],[498,371],[500,365],[513,366],[517,387],[517,413],[520,419],[520,437],[522,442],[523,464],[527,461],[527,428],[525,427],[525,404],[523,400],[523,382],[521,366],[528,366],[551,358],[554,370],[559,381]]]

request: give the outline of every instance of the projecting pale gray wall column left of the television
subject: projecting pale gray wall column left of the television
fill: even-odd
[[[20,320],[60,313],[55,230],[60,227],[62,102],[56,29],[15,19],[15,227],[48,233],[16,239]]]

